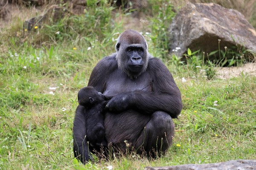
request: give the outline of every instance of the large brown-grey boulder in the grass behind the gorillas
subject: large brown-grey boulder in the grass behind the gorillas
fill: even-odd
[[[188,48],[206,54],[232,46],[256,51],[256,31],[236,10],[214,3],[188,3],[169,27],[170,53],[183,55]],[[178,48],[176,48],[178,47]],[[180,48],[180,49],[179,49]]]

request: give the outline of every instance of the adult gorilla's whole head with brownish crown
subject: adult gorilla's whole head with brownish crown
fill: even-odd
[[[147,42],[134,30],[124,31],[116,43],[116,59],[119,69],[130,78],[137,78],[148,67]]]

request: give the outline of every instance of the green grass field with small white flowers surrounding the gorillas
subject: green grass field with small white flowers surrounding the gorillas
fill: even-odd
[[[95,158],[86,165],[73,156],[77,93],[87,85],[96,63],[114,52],[115,33],[124,31],[122,21],[111,16],[125,18],[130,13],[95,8],[25,33],[32,39],[22,43],[17,42],[17,35],[24,33],[23,14],[17,14],[1,29],[1,35],[12,38],[0,44],[0,170],[98,170],[110,166],[122,170],[256,159],[255,75],[232,77],[227,70],[216,74],[212,65],[197,56],[189,55],[186,64],[180,62],[166,50],[166,28],[175,14],[161,2],[151,6],[151,13],[154,15],[147,18],[150,26],[143,28],[149,32],[143,31],[149,52],[172,72],[183,100],[168,153],[152,160],[134,153],[111,160]],[[37,44],[38,35],[50,35],[55,41]],[[207,71],[215,77],[207,79]],[[220,79],[223,74],[227,77]]]

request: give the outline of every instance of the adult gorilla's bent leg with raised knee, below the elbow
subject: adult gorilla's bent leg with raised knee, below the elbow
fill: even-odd
[[[149,157],[160,156],[172,145],[175,125],[169,114],[156,111],[151,115],[150,121],[145,125],[134,148],[137,153]]]

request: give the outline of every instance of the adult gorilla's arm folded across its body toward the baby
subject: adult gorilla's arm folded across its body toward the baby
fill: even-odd
[[[180,90],[172,74],[163,62],[157,58],[149,59],[147,71],[150,74],[148,78],[153,79],[152,92],[133,91],[121,93],[114,96],[107,107],[118,112],[136,108],[146,114],[164,111],[172,118],[177,118],[182,109],[182,102]]]

